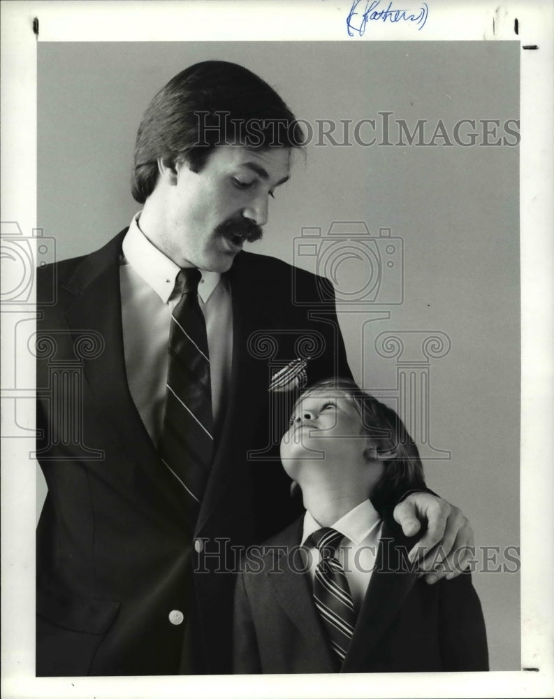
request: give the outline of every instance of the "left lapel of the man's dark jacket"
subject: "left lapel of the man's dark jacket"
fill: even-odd
[[[87,256],[64,284],[75,294],[65,310],[66,322],[74,337],[81,331],[83,334],[93,331],[103,338],[103,352],[83,362],[89,389],[112,426],[114,438],[140,464],[154,487],[160,488],[184,516],[184,493],[175,488],[173,477],[161,468],[127,383],[119,286],[119,254],[125,233],[126,230],[122,231],[108,245]]]

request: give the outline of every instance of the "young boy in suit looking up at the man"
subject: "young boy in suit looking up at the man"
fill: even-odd
[[[425,482],[398,415],[351,381],[319,382],[281,457],[306,512],[238,578],[235,672],[488,670],[469,574],[428,585],[407,560],[392,510]]]

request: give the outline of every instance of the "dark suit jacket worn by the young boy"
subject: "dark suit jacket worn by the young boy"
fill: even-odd
[[[237,673],[335,672],[337,664],[298,571],[302,518],[268,541],[262,563],[238,578]],[[428,585],[402,565],[414,545],[387,517],[370,585],[341,672],[488,670],[485,625],[469,574]],[[296,547],[287,561],[286,550]],[[277,572],[282,571],[282,572]],[[392,571],[392,572],[391,572]]]

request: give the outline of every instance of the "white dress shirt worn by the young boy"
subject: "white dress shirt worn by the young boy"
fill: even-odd
[[[383,521],[370,500],[364,500],[363,503],[344,514],[344,517],[336,521],[332,527],[344,536],[337,547],[336,555],[347,576],[354,610],[358,614],[377,559],[377,547],[379,547],[381,540]],[[306,511],[302,542],[312,554],[308,557],[310,564],[308,575],[312,579],[312,583],[321,556],[319,550],[307,542],[307,538],[318,529],[321,529],[321,524],[318,524],[312,514]]]

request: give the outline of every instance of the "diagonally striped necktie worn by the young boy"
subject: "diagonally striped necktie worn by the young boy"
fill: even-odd
[[[335,556],[342,538],[340,531],[330,527],[319,529],[309,538],[321,556],[314,578],[314,601],[340,665],[356,625],[347,576]]]

